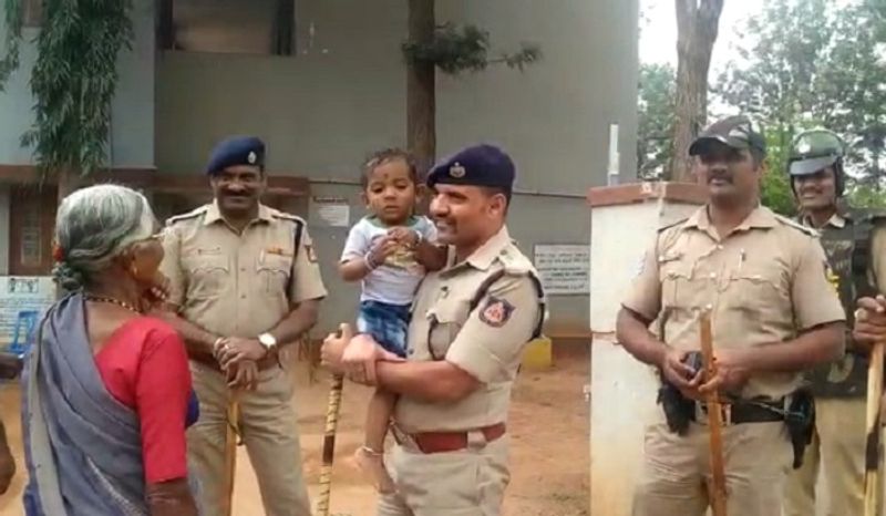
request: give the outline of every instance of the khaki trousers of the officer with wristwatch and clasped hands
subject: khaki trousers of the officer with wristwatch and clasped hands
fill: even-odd
[[[188,462],[200,482],[205,515],[222,516],[229,391],[222,373],[212,368],[192,361],[190,372],[200,416],[187,433]],[[290,403],[292,383],[279,367],[261,371],[259,380],[256,391],[239,395],[239,429],[261,492],[261,514],[310,516],[296,412]]]

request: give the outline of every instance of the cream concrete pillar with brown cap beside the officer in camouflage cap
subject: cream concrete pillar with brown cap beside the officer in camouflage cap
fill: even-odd
[[[658,228],[704,200],[697,185],[642,183],[591,188],[590,515],[627,516],[643,451],[643,427],[659,410],[655,371],[615,341],[621,298]]]

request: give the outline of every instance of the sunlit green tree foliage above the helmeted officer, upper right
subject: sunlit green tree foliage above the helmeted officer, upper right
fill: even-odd
[[[884,183],[886,64],[878,59],[883,0],[771,0],[743,29],[739,49],[714,92],[793,137],[826,126],[848,144],[847,171]]]

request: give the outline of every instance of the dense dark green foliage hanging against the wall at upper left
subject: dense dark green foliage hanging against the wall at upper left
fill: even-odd
[[[34,147],[44,173],[105,166],[117,53],[132,48],[131,9],[132,0],[43,0],[31,74],[35,120],[22,145]]]

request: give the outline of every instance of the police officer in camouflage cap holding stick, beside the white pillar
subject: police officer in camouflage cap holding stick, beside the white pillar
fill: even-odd
[[[679,389],[677,417],[660,411],[647,427],[635,516],[701,516],[711,475],[704,394],[724,410],[730,516],[781,516],[793,453],[784,407],[800,371],[834,360],[845,314],[827,281],[822,246],[807,229],[760,205],[765,142],[744,116],[708,127],[690,149],[709,200],[659,230],[622,301],[617,339]],[[710,310],[715,374],[687,363],[700,349],[699,314]],[[659,331],[649,331],[658,319]],[[672,431],[674,427],[677,431]]]

